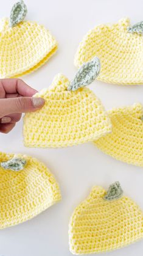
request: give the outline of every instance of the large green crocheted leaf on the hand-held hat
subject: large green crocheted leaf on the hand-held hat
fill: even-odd
[[[88,86],[94,79],[97,78],[100,72],[100,60],[94,57],[89,62],[86,62],[77,71],[74,79],[69,84],[68,90],[77,90],[80,87]]]

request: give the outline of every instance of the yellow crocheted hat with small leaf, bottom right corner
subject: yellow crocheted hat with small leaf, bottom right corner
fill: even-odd
[[[122,196],[119,182],[106,193],[94,186],[88,198],[75,208],[69,223],[72,254],[107,252],[143,238],[143,213]]]

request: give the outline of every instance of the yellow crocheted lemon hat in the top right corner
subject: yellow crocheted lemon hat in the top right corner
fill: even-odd
[[[97,79],[113,84],[143,84],[143,22],[130,27],[128,18],[96,26],[85,35],[75,54],[75,66],[97,56]]]

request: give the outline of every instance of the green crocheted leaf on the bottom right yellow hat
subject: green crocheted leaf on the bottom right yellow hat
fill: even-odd
[[[108,201],[119,199],[122,196],[122,194],[123,191],[120,186],[120,183],[119,181],[116,181],[115,183],[110,185],[104,199]]]

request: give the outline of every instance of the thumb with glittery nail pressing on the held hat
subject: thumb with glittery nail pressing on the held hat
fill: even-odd
[[[18,97],[0,99],[0,117],[14,113],[32,112],[44,105],[43,98]]]

